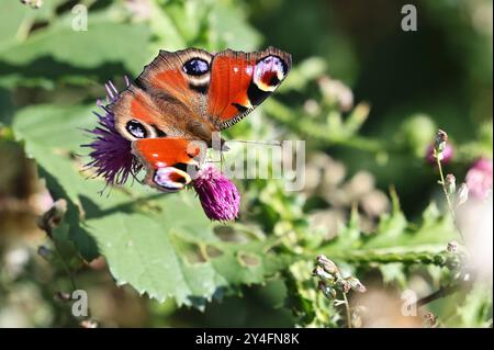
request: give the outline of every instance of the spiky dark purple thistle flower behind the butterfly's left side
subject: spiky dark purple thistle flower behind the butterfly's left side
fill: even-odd
[[[128,80],[125,79],[127,86]],[[112,103],[119,97],[119,91],[110,81],[105,84],[106,102]],[[91,148],[89,156],[92,160],[87,163],[88,168],[94,168],[96,176],[102,176],[106,184],[123,184],[130,174],[135,174],[141,169],[141,163],[132,154],[131,142],[124,138],[115,128],[114,114],[98,101],[104,114],[98,116],[98,126],[89,131],[93,136],[91,144],[81,147]]]

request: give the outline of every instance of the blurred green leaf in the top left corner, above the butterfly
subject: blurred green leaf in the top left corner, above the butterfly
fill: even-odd
[[[64,79],[138,75],[149,60],[146,26],[110,22],[105,12],[88,16],[88,31],[75,31],[72,16],[59,18],[25,42],[0,46],[0,86],[44,84]]]

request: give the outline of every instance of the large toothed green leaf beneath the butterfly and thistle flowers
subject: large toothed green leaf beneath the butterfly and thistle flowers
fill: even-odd
[[[167,195],[136,183],[99,195],[103,182],[87,180],[80,172],[85,161],[74,155],[88,143],[82,128],[96,124],[90,111],[37,105],[21,110],[13,123],[50,193],[68,201],[68,237],[86,259],[102,253],[119,284],[198,307],[224,289],[261,283],[285,266],[283,256],[267,251],[270,239],[234,229],[245,237],[227,241],[215,235],[192,192]]]

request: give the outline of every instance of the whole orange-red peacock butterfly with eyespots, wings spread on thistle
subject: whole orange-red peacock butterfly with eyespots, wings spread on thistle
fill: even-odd
[[[146,183],[175,192],[191,181],[184,168],[199,166],[212,134],[250,113],[290,67],[291,56],[273,47],[257,53],[161,50],[108,108],[145,166]]]

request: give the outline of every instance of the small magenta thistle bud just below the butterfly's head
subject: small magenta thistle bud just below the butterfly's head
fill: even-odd
[[[226,222],[238,216],[240,194],[237,188],[212,165],[198,171],[192,185],[209,218]]]

